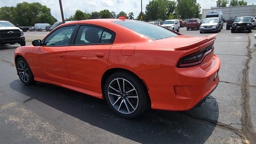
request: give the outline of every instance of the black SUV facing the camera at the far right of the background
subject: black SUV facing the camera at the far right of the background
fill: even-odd
[[[252,32],[252,22],[253,21],[252,16],[239,16],[235,19],[234,23],[232,24],[231,33],[234,33],[236,31],[246,31]]]

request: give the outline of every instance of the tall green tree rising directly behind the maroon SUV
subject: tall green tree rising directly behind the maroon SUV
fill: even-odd
[[[196,0],[179,0],[175,8],[175,14],[180,18],[199,18],[201,6]]]

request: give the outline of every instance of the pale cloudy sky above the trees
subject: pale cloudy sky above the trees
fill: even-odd
[[[2,6],[16,6],[20,2],[40,2],[51,8],[52,15],[58,20],[61,20],[59,1],[58,0],[0,0],[0,7]],[[150,0],[142,0],[142,11],[145,11],[146,5]],[[256,4],[256,0],[245,0],[248,5]],[[197,0],[202,8],[210,8],[216,6],[216,0]],[[140,0],[62,0],[64,17],[69,17],[74,14],[76,10],[84,12],[100,11],[108,9],[116,12],[124,11],[134,13],[137,17],[140,13]]]

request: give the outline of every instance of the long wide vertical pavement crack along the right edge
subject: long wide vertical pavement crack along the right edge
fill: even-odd
[[[248,87],[249,82],[249,70],[250,66],[249,63],[252,60],[252,50],[250,50],[251,45],[251,39],[249,34],[248,36],[248,44],[246,46],[247,49],[247,60],[245,64],[245,68],[242,72],[243,79],[241,84],[241,92],[242,92],[242,118],[241,122],[242,124],[242,132],[245,134],[245,136],[251,141],[252,144],[256,143],[256,133],[253,130],[252,120],[251,120],[251,114],[250,114],[250,87]]]

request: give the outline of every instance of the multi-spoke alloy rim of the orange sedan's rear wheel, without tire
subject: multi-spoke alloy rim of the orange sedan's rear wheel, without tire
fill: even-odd
[[[108,98],[112,106],[122,114],[131,114],[138,107],[138,93],[124,78],[115,78],[110,82]]]

